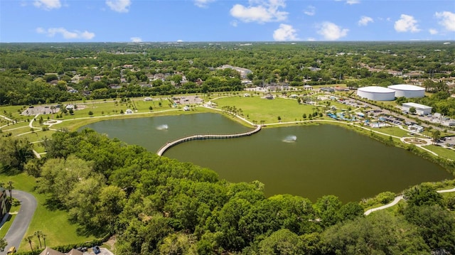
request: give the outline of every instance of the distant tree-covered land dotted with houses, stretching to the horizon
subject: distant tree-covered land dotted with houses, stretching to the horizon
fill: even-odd
[[[455,48],[441,42],[1,43],[0,105],[55,104],[245,86],[349,87],[419,82],[455,116]],[[240,75],[223,65],[242,67]],[[441,104],[441,105],[440,105]]]

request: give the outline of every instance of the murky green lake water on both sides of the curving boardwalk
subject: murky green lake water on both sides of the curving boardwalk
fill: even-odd
[[[153,152],[191,134],[252,129],[221,114],[119,119],[85,127]],[[213,169],[232,182],[259,180],[267,196],[289,193],[313,201],[323,195],[358,201],[453,178],[444,168],[408,151],[328,124],[262,129],[239,139],[190,141],[170,148],[164,156]]]

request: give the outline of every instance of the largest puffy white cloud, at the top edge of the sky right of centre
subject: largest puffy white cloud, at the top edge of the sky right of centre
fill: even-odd
[[[235,4],[230,9],[230,15],[240,19],[243,22],[273,22],[284,21],[287,18],[286,11],[279,11],[284,8],[284,0],[250,0],[249,6]]]

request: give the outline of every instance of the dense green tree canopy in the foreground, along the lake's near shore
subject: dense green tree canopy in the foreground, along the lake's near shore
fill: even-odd
[[[90,129],[57,132],[33,158],[24,139],[2,137],[4,171],[37,178],[46,204],[80,232],[117,235],[117,254],[453,254],[455,197],[431,183],[405,190],[393,212],[371,202],[264,196],[264,185],[229,183],[213,171],[127,145]]]

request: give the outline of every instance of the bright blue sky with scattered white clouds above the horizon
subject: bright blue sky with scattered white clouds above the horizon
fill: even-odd
[[[455,1],[0,1],[2,43],[289,40],[455,40]]]

